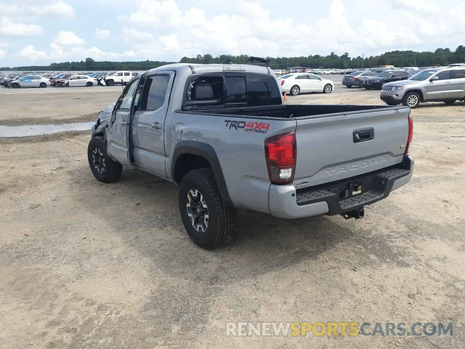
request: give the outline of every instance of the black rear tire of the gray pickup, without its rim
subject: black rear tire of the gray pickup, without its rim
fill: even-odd
[[[199,232],[194,228],[188,215],[188,194],[191,190],[198,190],[206,202],[209,217],[205,232]],[[178,202],[184,228],[196,245],[213,250],[231,240],[236,229],[237,211],[226,207],[221,200],[215,176],[210,168],[196,169],[184,175],[180,183]]]

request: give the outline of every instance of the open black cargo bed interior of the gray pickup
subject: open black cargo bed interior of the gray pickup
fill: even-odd
[[[375,111],[379,109],[397,109],[399,107],[347,105],[347,104],[286,104],[266,107],[237,107],[223,109],[190,110],[185,113],[194,114],[228,114],[275,118],[307,118],[309,116],[324,117],[328,114]]]

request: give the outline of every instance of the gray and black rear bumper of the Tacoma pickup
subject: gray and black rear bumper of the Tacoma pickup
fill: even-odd
[[[314,215],[338,215],[350,212],[385,199],[393,190],[408,183],[413,174],[414,159],[411,155],[396,168],[383,169],[344,181],[329,183],[317,188],[296,192],[290,185],[271,185],[269,192],[270,213],[281,218],[302,218]],[[359,195],[340,199],[341,188],[355,182],[362,185]]]

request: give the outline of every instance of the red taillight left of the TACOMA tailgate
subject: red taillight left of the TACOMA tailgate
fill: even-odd
[[[277,134],[265,140],[268,175],[273,184],[289,184],[294,180],[297,143],[295,132]]]

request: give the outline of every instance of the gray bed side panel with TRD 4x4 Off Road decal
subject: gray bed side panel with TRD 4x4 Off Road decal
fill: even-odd
[[[266,168],[265,139],[275,134],[295,131],[295,120],[183,112],[174,112],[168,115],[167,119],[166,172],[170,179],[176,145],[181,141],[206,143],[216,151],[234,206],[269,212],[270,180]],[[266,133],[249,132],[246,131],[247,127],[234,128],[231,121],[242,121],[245,125],[249,122],[264,123],[269,126],[267,130],[265,125],[261,127]],[[240,126],[244,125],[243,123]],[[180,128],[182,134],[180,139],[176,140],[179,138]]]

